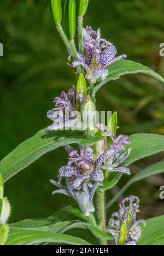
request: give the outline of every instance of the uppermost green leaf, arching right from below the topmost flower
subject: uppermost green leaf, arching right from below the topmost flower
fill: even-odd
[[[93,88],[92,96],[95,97],[96,92],[99,90],[99,88],[101,88],[107,82],[119,79],[122,75],[137,73],[150,75],[159,80],[160,82],[164,83],[163,77],[157,74],[155,71],[147,68],[147,66],[144,66],[140,63],[132,62],[131,60],[120,59],[118,60],[118,62],[115,62],[112,65],[108,66],[107,78]]]

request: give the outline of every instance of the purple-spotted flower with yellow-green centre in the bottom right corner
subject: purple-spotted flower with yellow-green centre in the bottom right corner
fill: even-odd
[[[112,214],[108,232],[113,235],[116,244],[135,245],[138,242],[142,232],[138,224],[142,223],[145,226],[144,220],[136,220],[138,212],[139,198],[129,196],[120,203],[119,212]]]

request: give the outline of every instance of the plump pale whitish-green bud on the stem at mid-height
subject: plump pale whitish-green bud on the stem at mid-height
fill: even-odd
[[[86,97],[81,107],[81,115],[83,120],[83,130],[95,130],[96,108],[95,104],[91,101],[90,96]]]

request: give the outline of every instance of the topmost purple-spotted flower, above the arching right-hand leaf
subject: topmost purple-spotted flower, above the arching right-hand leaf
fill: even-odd
[[[94,31],[91,27],[83,30],[84,55],[78,54],[78,61],[73,62],[73,66],[82,65],[86,69],[86,79],[92,84],[101,77],[105,79],[108,75],[107,66],[119,59],[126,58],[126,54],[115,57],[116,48],[112,43],[101,38],[101,32]]]

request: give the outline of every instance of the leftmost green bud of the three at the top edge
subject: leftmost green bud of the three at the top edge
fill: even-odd
[[[51,13],[54,22],[57,25],[61,24],[62,21],[62,7],[61,0],[50,0]]]

